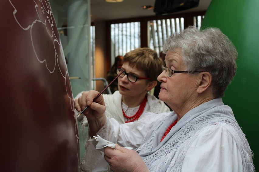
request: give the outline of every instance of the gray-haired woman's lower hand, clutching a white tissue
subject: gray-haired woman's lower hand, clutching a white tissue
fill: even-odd
[[[149,172],[145,162],[136,151],[120,147],[118,144],[116,148],[106,147],[104,150],[104,158],[113,172]]]

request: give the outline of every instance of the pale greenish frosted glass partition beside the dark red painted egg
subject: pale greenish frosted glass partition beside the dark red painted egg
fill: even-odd
[[[90,43],[90,0],[49,0],[67,62],[73,96],[92,88],[94,61]],[[94,42],[92,42],[94,44]],[[87,127],[81,130],[80,159],[85,152]],[[84,139],[85,138],[85,139]]]

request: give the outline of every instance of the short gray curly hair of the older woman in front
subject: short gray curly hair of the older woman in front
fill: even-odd
[[[165,54],[177,49],[181,50],[186,70],[209,72],[214,96],[223,97],[237,70],[238,53],[230,39],[218,28],[198,30],[190,26],[171,35],[163,45]]]

